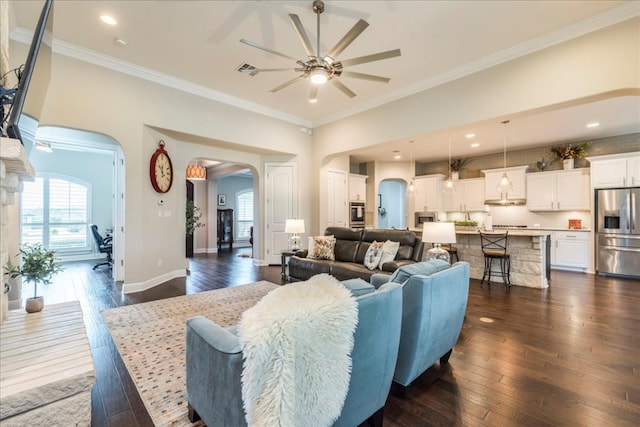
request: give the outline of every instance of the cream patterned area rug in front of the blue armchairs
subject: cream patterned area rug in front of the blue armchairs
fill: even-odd
[[[201,315],[223,327],[235,325],[245,310],[279,287],[260,281],[102,312],[156,426],[192,425],[185,385],[187,319]]]

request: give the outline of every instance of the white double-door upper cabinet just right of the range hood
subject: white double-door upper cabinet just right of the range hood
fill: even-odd
[[[589,210],[589,169],[527,174],[530,211]]]

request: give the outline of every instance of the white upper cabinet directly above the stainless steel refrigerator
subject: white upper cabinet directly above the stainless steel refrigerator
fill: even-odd
[[[640,153],[621,153],[588,157],[593,188],[635,187],[640,185]]]

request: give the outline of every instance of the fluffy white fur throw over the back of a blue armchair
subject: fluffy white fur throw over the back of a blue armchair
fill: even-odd
[[[245,311],[242,400],[251,427],[330,426],[351,378],[358,304],[334,277],[282,286]]]

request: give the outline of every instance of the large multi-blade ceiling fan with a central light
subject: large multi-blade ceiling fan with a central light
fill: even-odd
[[[350,98],[356,96],[355,92],[349,89],[347,86],[342,83],[338,77],[346,76],[352,77],[356,79],[370,80],[374,82],[388,83],[391,80],[388,77],[376,76],[372,74],[364,74],[357,73],[355,71],[347,71],[344,67],[348,67],[351,65],[364,64],[367,62],[380,61],[382,59],[394,58],[396,56],[400,56],[400,49],[388,50],[386,52],[374,53],[371,55],[359,56],[357,58],[345,59],[343,61],[339,61],[336,59],[342,51],[344,51],[355,39],[362,33],[369,24],[367,21],[360,19],[356,24],[342,37],[342,39],[336,43],[336,45],[329,50],[324,56],[320,55],[320,14],[324,12],[324,2],[322,0],[315,0],[313,2],[313,11],[316,14],[317,21],[317,44],[316,50],[314,51],[313,45],[311,44],[311,40],[304,30],[302,23],[300,22],[300,18],[298,15],[289,14],[289,18],[291,19],[291,24],[293,24],[293,28],[295,29],[302,45],[304,46],[305,51],[307,52],[307,59],[300,60],[296,59],[292,56],[289,56],[284,53],[277,52],[273,49],[269,49],[267,47],[261,46],[258,43],[254,43],[252,41],[241,39],[240,42],[247,44],[249,46],[255,47],[257,49],[264,50],[266,52],[272,53],[274,55],[281,56],[283,58],[291,59],[298,67],[295,68],[263,68],[257,69],[256,72],[265,72],[265,71],[290,71],[294,70],[297,72],[301,72],[298,77],[291,79],[280,86],[276,86],[271,89],[270,92],[274,93],[281,89],[284,89],[287,86],[290,86],[298,81],[309,79],[311,83],[311,94],[309,96],[310,102],[316,102],[318,100],[318,86],[324,83],[331,83],[333,86],[338,88],[342,93],[347,95]]]

